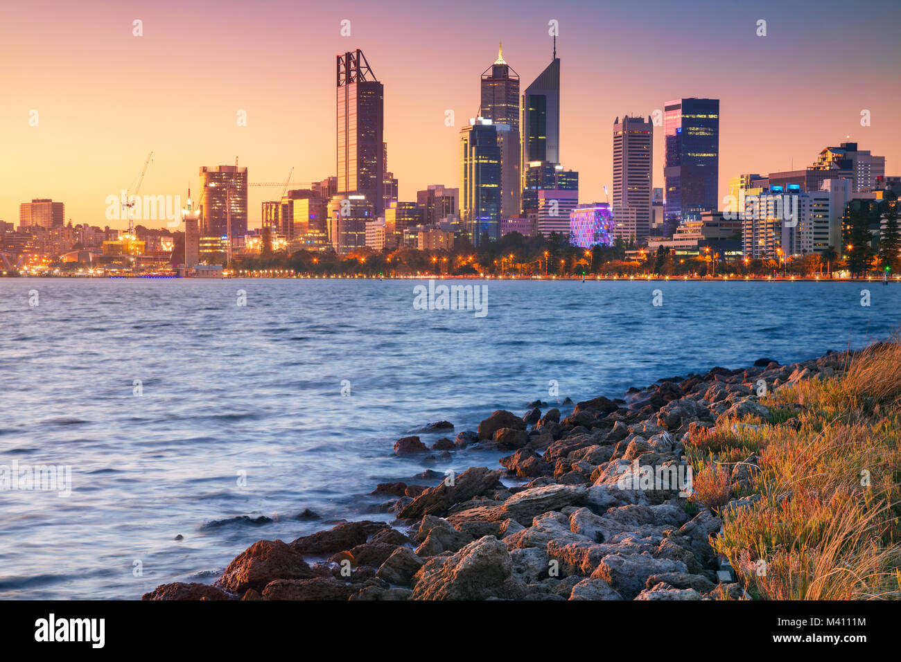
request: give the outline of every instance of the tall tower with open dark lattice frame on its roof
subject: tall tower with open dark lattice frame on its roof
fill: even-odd
[[[362,50],[337,56],[338,191],[363,195],[378,215],[385,176],[384,87]]]

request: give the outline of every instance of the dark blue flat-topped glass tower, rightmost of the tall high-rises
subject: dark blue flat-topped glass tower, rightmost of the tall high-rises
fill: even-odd
[[[719,208],[719,99],[677,99],[663,106],[666,236],[678,224]]]

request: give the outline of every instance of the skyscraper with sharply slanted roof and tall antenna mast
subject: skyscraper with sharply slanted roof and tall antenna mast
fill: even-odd
[[[556,48],[551,64],[523,93],[522,131],[523,177],[532,161],[560,163],[560,58]]]

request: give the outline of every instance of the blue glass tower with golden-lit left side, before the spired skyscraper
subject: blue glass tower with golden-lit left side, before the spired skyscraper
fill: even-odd
[[[460,221],[473,246],[498,238],[501,150],[491,120],[476,117],[460,130]]]

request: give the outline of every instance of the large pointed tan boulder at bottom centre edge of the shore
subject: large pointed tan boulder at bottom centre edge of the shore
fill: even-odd
[[[485,600],[507,597],[513,562],[493,536],[470,542],[450,557],[429,560],[414,576],[414,600]]]

